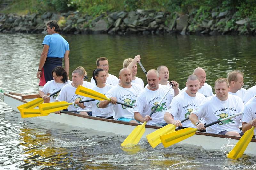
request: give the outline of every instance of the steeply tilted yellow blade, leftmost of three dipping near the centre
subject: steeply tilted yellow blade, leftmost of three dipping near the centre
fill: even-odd
[[[132,132],[126,137],[124,142],[121,143],[121,146],[126,148],[131,148],[131,147],[134,147],[134,145],[138,144],[140,141],[140,138],[145,132],[145,125],[146,125],[146,122],[136,126],[136,128],[134,128]]]

